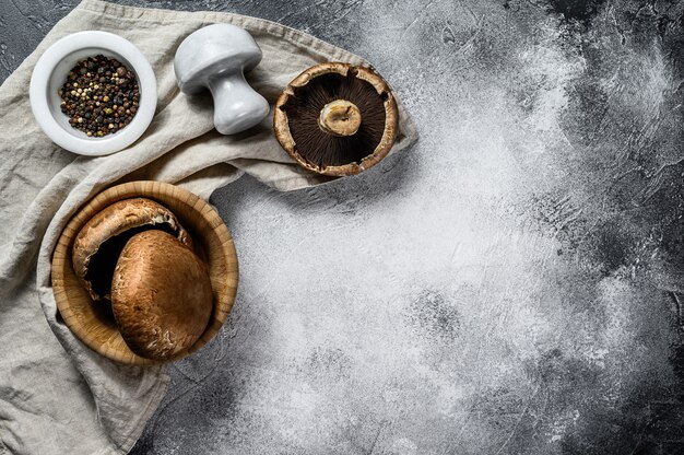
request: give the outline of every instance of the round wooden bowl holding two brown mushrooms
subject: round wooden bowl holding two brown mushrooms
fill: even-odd
[[[203,199],[161,182],[131,182],[108,188],[91,199],[67,224],[52,254],[52,292],[57,308],[71,331],[89,348],[114,361],[150,365],[164,361],[133,353],[123,341],[107,302],[93,302],[71,264],[73,241],[95,213],[122,199],[143,197],[168,208],[192,236],[196,252],[209,268],[214,310],[207,329],[190,348],[172,361],[200,349],[221,329],[237,292],[238,267],[235,245],[219,213]],[[168,361],[168,360],[167,360]]]

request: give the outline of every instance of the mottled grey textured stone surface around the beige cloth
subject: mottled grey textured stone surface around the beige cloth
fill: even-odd
[[[684,2],[122,1],[359,54],[421,140],[213,196],[241,282],[134,454],[684,453]],[[0,0],[0,81],[72,0]]]

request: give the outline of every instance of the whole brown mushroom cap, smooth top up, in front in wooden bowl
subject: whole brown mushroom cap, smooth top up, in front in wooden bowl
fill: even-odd
[[[190,248],[157,230],[128,241],[111,280],[111,308],[134,353],[172,359],[204,332],[212,307],[209,272]]]

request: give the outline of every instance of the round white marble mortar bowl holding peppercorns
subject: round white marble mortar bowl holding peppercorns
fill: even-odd
[[[94,138],[69,125],[57,92],[79,61],[98,54],[116,58],[135,74],[140,101],[129,125]],[[55,143],[82,155],[107,155],[135,142],[150,126],[156,108],[156,79],[145,56],[129,40],[107,32],[79,32],[61,38],[40,56],[31,75],[30,97],[33,115]]]

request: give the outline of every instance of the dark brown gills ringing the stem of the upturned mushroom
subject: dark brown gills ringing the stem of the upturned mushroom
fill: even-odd
[[[361,126],[354,136],[332,136],[319,127],[321,109],[335,100],[346,100],[361,110]],[[319,167],[359,163],[380,143],[385,131],[385,101],[375,88],[356,78],[354,71],[346,77],[328,73],[294,89],[281,108],[287,115],[290,133],[295,150],[307,162]]]

